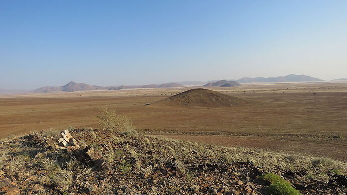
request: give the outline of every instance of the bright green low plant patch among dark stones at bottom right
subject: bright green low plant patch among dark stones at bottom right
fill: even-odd
[[[300,194],[299,191],[294,189],[288,181],[276,175],[274,173],[263,174],[261,178],[265,181],[269,181],[271,185],[267,188],[268,194],[273,195],[296,195]]]

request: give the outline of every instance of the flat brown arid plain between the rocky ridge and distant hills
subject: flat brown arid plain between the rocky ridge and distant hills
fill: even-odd
[[[256,102],[239,107],[145,105],[192,88],[199,87],[2,95],[0,137],[69,126],[97,128],[96,116],[108,106],[147,135],[347,161],[347,82],[208,88]]]

